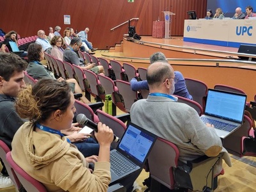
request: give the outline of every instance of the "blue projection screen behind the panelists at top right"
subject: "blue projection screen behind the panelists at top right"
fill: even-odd
[[[239,6],[242,8],[242,11],[246,15],[245,7],[252,6],[253,12],[256,13],[256,1],[255,0],[208,0],[207,1],[207,10],[212,10],[212,13],[215,14],[216,8],[221,8],[225,17],[233,17],[236,12],[236,8]],[[205,10],[206,15],[206,10]]]

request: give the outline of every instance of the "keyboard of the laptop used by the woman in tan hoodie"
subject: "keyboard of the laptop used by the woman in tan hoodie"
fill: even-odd
[[[111,152],[110,154],[111,170],[113,170],[116,175],[121,176],[136,168],[136,165],[125,159],[117,151]]]

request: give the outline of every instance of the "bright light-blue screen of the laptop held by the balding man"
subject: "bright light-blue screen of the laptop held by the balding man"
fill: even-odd
[[[246,95],[244,94],[209,89],[205,115],[242,124],[245,103]]]

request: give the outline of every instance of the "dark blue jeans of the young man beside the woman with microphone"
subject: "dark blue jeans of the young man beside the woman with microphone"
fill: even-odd
[[[93,138],[88,138],[81,143],[72,143],[76,145],[78,150],[84,155],[84,157],[99,156],[100,145]]]

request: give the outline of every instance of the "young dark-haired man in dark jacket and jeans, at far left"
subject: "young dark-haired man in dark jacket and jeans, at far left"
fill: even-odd
[[[40,46],[36,44],[36,46]],[[12,140],[15,132],[25,122],[17,115],[14,102],[18,93],[25,88],[24,70],[28,63],[21,60],[15,54],[0,54],[0,140],[12,150]],[[44,69],[43,69],[44,70]],[[90,134],[79,133],[81,128],[73,124],[68,131],[63,131],[67,138],[79,149],[84,157],[98,155],[99,144],[93,139],[88,138]],[[2,170],[3,175],[8,175],[6,169]],[[0,175],[0,186],[1,186]],[[8,182],[7,182],[8,183]]]

